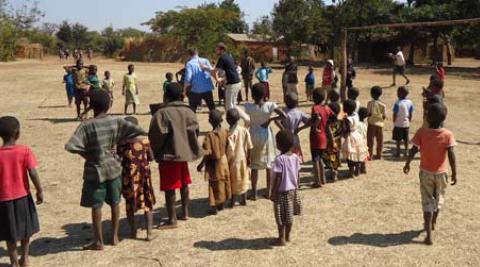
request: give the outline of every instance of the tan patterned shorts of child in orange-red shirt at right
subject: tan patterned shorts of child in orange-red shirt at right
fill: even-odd
[[[436,174],[420,170],[420,193],[422,195],[423,212],[440,210],[445,201],[447,184],[447,173]]]

